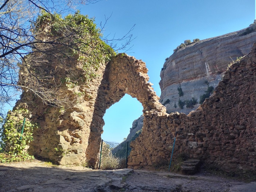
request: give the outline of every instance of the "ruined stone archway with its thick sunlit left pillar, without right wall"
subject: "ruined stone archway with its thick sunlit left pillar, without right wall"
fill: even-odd
[[[165,107],[148,82],[146,64],[126,54],[116,55],[107,65],[102,65],[98,76],[89,84],[76,85],[72,90],[82,90],[87,97],[72,109],[59,109],[43,105],[29,91],[24,91],[16,108],[27,108],[29,120],[37,122],[34,141],[30,143],[32,155],[49,158],[58,164],[82,164],[98,161],[101,133],[106,110],[125,94],[137,98],[144,113],[165,114]],[[67,87],[63,87],[67,89]],[[74,94],[75,95],[75,94]]]

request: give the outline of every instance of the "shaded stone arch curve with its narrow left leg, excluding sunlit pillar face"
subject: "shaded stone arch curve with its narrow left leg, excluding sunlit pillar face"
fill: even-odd
[[[159,97],[148,82],[148,69],[145,62],[134,57],[119,54],[107,64],[95,100],[86,158],[91,165],[97,163],[103,116],[106,110],[125,95],[137,98],[143,106],[143,113],[158,112],[164,114],[166,108],[159,103]]]

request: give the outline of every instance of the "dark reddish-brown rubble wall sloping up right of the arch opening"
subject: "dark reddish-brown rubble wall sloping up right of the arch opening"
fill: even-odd
[[[213,95],[195,111],[144,113],[143,131],[131,143],[131,168],[168,164],[187,155],[227,172],[255,171],[256,44],[224,73]]]

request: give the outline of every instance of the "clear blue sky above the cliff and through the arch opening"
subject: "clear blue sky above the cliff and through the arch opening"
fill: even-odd
[[[160,71],[164,59],[186,39],[211,38],[248,27],[255,19],[255,0],[101,0],[79,7],[81,13],[105,21],[104,35],[121,37],[131,32],[132,50],[128,55],[146,62],[149,81],[160,96]],[[104,115],[102,139],[121,142],[132,122],[142,115],[142,105],[125,95]]]

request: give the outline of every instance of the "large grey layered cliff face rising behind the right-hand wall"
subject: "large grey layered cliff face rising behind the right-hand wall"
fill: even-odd
[[[248,54],[255,42],[255,25],[246,29],[205,39],[179,49],[171,55],[161,70],[161,100],[168,113],[178,111],[188,114],[200,104],[191,107],[178,106],[181,101],[191,100],[199,103],[200,96],[208,86],[214,88],[222,80],[227,66],[236,58]],[[181,87],[183,96],[179,97],[177,88]],[[174,107],[176,104],[176,108]]]

